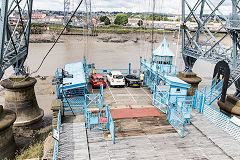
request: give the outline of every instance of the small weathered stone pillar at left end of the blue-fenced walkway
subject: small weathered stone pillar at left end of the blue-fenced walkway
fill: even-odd
[[[63,111],[62,101],[60,99],[54,99],[52,101],[52,128],[57,128],[57,121],[58,121],[58,111],[61,109]]]

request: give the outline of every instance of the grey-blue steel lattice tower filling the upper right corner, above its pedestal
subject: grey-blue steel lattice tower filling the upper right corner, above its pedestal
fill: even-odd
[[[224,15],[224,6],[232,5],[231,15]],[[182,0],[182,25],[190,21],[195,28],[182,29],[182,55],[185,72],[192,72],[197,59],[217,63],[221,60],[229,64],[231,75],[228,87],[235,83],[240,96],[240,0]],[[214,22],[218,22],[214,23]],[[213,26],[216,28],[213,28]],[[219,36],[220,35],[220,36]],[[230,43],[227,43],[229,42]]]

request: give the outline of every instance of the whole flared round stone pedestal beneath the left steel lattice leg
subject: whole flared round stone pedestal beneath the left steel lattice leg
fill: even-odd
[[[5,91],[5,108],[14,111],[17,119],[14,126],[26,126],[39,122],[43,110],[38,107],[34,86],[37,80],[26,76],[12,76],[1,82]]]

